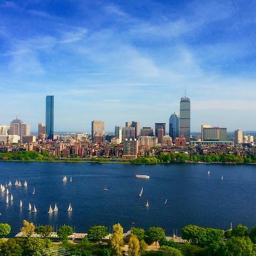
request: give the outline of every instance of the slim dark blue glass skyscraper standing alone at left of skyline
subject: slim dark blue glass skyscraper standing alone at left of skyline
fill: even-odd
[[[45,124],[46,124],[46,139],[53,140],[53,111],[54,111],[54,96],[46,96],[45,105]]]

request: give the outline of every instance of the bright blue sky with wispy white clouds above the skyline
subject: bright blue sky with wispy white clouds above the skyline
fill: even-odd
[[[255,12],[252,0],[2,0],[0,124],[18,115],[37,131],[54,95],[55,131],[154,127],[186,91],[191,131],[256,130]]]

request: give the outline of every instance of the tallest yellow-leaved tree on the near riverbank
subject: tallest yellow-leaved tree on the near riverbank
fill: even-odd
[[[110,238],[110,247],[113,256],[122,256],[123,240],[123,227],[117,223],[113,225],[113,234]]]

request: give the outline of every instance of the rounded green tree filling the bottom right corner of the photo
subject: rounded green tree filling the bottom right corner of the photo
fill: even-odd
[[[231,237],[223,249],[225,256],[254,256],[253,243],[248,236]]]

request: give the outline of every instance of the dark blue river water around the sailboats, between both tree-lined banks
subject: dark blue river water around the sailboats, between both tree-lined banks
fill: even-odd
[[[150,179],[135,179],[135,174],[148,174]],[[73,182],[62,182],[63,175],[68,180],[72,176]],[[14,186],[15,179],[22,185],[27,180],[28,187]],[[14,199],[6,204],[5,193],[0,193],[0,222],[11,225],[11,235],[19,232],[23,219],[35,225],[66,224],[76,232],[117,222],[127,231],[134,222],[145,229],[160,226],[167,235],[173,229],[180,234],[189,224],[221,229],[228,229],[230,222],[256,226],[256,165],[0,162],[0,182],[9,180]],[[108,191],[103,190],[105,185]],[[27,211],[29,202],[36,205],[37,213]],[[55,202],[58,213],[47,213]]]

